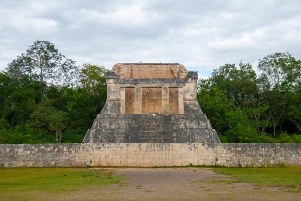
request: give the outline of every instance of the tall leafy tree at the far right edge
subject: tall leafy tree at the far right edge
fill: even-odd
[[[288,119],[301,132],[300,88],[301,60],[295,59],[289,52],[276,52],[259,59],[258,69],[261,77],[269,82],[269,119],[275,128]]]

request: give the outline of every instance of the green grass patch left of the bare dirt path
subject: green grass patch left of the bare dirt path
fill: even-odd
[[[113,170],[88,168],[0,168],[0,194],[75,191],[83,186],[115,184],[128,179],[113,173]]]

